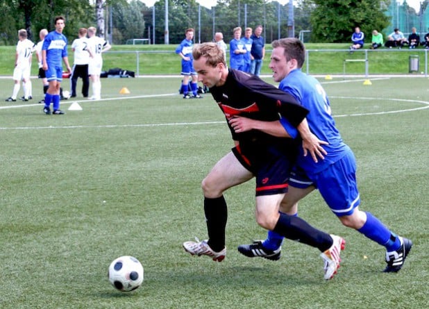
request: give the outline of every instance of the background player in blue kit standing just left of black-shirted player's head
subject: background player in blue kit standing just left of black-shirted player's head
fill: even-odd
[[[187,28],[185,30],[185,39],[180,42],[178,47],[176,48],[176,53],[182,58],[182,72],[180,74],[183,75],[181,93],[183,93],[183,99],[196,98],[199,99],[201,96],[198,94],[198,83],[196,81],[196,73],[194,70],[194,58],[192,58],[192,47],[194,43],[192,39],[194,38],[194,28]],[[189,92],[189,81],[190,77],[192,77],[191,81],[191,91],[192,97]]]

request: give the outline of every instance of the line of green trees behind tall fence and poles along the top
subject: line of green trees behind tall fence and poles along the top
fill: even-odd
[[[0,44],[16,44],[20,28],[26,28],[36,42],[40,29],[54,28],[57,15],[66,18],[64,34],[69,40],[76,37],[78,28],[96,26],[97,33],[112,44],[125,44],[133,38],[164,44],[165,0],[150,8],[142,1],[0,0]],[[387,28],[392,18],[386,14],[390,0],[298,0],[294,1],[293,11],[288,3],[267,0],[218,0],[213,8],[200,6],[196,0],[168,3],[170,44],[183,40],[185,28],[195,29],[196,42],[211,41],[219,31],[228,42],[236,26],[255,28],[259,24],[264,26],[267,42],[289,36],[291,27],[295,36],[300,31],[310,33],[311,42],[349,42],[355,26],[369,34],[373,29]]]

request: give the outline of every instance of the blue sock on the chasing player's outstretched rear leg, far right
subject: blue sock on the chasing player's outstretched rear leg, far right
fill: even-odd
[[[392,233],[379,219],[367,212],[367,222],[357,230],[370,240],[381,244],[387,251],[395,251],[401,247],[399,237]]]

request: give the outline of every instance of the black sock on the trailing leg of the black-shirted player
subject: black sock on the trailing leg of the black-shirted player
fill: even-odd
[[[328,233],[310,226],[300,217],[289,216],[284,213],[280,213],[274,232],[285,236],[289,240],[308,244],[321,252],[326,251],[333,245],[333,239]]]

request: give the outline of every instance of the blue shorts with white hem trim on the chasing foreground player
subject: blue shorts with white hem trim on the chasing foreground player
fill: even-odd
[[[294,167],[289,179],[292,187],[314,185],[335,215],[351,215],[359,206],[360,197],[356,182],[356,160],[352,151],[322,172],[307,176],[303,169]]]

